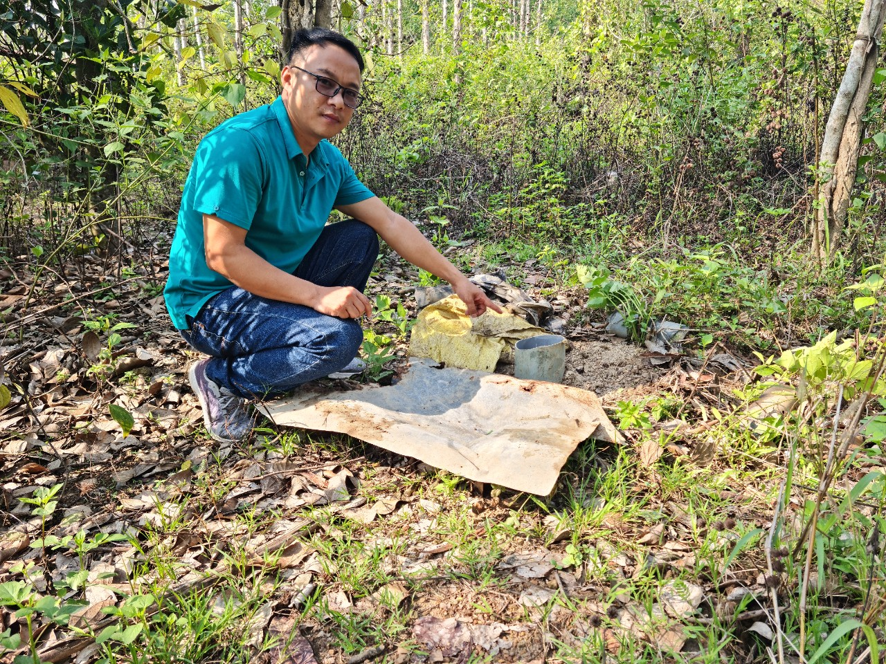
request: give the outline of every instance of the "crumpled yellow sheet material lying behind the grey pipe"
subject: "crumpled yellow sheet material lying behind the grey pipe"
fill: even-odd
[[[513,344],[546,334],[513,313],[486,310],[471,319],[457,295],[450,295],[418,314],[409,355],[444,362],[447,367],[492,372],[501,359],[513,357]]]

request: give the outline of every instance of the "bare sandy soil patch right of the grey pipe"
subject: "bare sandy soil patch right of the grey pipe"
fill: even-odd
[[[617,337],[570,340],[563,385],[595,392],[604,401],[618,390],[654,385],[665,372],[653,367],[644,352]]]

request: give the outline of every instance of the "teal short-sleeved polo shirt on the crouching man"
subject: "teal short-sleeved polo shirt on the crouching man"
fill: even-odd
[[[245,228],[246,246],[292,273],[330,212],[373,196],[341,152],[321,141],[299,148],[283,98],[222,122],[200,144],[184,183],[163,295],[178,329],[233,284],[206,266],[203,215]]]

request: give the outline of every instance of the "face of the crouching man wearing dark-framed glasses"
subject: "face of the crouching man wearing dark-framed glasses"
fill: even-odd
[[[339,90],[335,97],[324,97],[316,89],[314,76],[308,72],[336,81],[338,85],[354,90],[360,89],[360,66],[346,50],[334,44],[310,46],[292,59],[280,74],[283,84],[283,101],[292,123],[295,137],[313,149],[324,138],[331,138],[347,127],[354,116],[354,109],[345,105]],[[306,148],[302,144],[302,149]]]

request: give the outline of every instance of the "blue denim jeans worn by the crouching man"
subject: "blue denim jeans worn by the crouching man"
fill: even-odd
[[[323,228],[293,274],[318,286],[364,290],[377,256],[372,228],[339,221]],[[210,380],[241,397],[264,398],[346,367],[360,349],[363,330],[357,320],[232,286],[206,302],[182,336],[212,357],[206,365]]]

